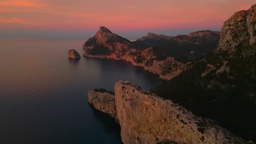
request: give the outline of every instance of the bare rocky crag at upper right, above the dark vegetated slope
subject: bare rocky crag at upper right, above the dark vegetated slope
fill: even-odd
[[[248,10],[237,11],[224,22],[216,52],[236,51],[236,46],[256,41],[256,4]]]

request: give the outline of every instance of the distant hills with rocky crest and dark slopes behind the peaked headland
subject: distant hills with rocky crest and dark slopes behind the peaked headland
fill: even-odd
[[[139,38],[132,43],[138,49],[156,47],[162,57],[173,57],[179,62],[189,62],[205,57],[216,48],[220,32],[199,31],[189,35],[168,37],[149,33],[146,37]]]

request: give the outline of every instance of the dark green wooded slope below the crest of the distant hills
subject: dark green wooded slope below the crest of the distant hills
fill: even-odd
[[[174,57],[177,61],[186,63],[191,60],[205,57],[217,46],[219,35],[213,34],[211,38],[188,37],[188,35],[178,35],[177,39],[184,40],[179,42],[171,39],[146,39],[132,42],[137,49],[147,49],[153,47],[156,60],[166,57]],[[190,52],[194,51],[193,54]]]

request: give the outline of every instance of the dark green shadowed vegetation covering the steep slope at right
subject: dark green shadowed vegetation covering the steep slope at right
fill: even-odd
[[[256,141],[256,45],[239,45],[236,52],[216,53],[207,62],[197,62],[192,69],[152,89],[160,97],[179,103],[197,116],[211,118],[232,133]],[[244,56],[246,54],[246,56]],[[219,59],[221,61],[219,61]],[[207,63],[217,68],[228,60],[230,73],[205,77]],[[219,66],[218,66],[219,65]],[[203,133],[203,129],[199,128]]]

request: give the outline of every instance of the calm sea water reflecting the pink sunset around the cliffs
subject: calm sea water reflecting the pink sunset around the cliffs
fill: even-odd
[[[114,119],[88,104],[89,89],[162,81],[124,61],[69,61],[85,40],[0,39],[0,143],[121,143]]]

